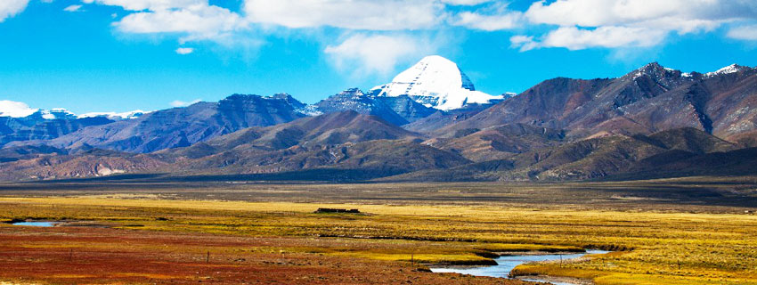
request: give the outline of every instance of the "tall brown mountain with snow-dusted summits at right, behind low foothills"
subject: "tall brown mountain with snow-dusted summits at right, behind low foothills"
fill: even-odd
[[[748,144],[743,134],[757,130],[755,107],[757,69],[703,75],[650,63],[615,79],[549,79],[444,131],[521,123],[588,137],[694,127]]]

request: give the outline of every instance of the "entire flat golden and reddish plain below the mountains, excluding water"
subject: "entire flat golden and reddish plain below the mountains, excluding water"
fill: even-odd
[[[757,216],[745,215],[757,205],[753,177],[3,188],[2,219],[83,222],[0,225],[0,281],[501,283],[424,268],[604,248],[615,252],[516,272],[597,284],[757,284]],[[321,207],[364,214],[313,213]]]

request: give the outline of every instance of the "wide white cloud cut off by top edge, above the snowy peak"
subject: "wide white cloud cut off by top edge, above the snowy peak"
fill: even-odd
[[[433,28],[444,4],[430,0],[247,0],[248,19],[288,28],[403,30]]]

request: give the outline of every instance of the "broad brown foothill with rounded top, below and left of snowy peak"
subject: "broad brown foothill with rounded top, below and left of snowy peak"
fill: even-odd
[[[251,127],[157,155],[173,159],[172,167],[186,171],[214,169],[224,174],[331,169],[380,177],[469,162],[459,154],[418,141],[419,134],[350,110],[277,126]]]

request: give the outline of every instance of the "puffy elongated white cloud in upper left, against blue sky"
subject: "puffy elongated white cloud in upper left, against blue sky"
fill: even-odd
[[[114,24],[119,31],[132,34],[183,33],[182,42],[217,39],[245,28],[240,16],[227,9],[192,4],[180,9],[134,12]]]

